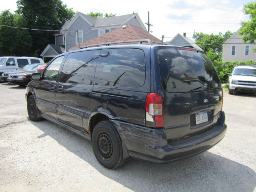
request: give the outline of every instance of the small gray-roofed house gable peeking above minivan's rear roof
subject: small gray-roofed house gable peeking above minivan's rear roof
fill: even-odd
[[[172,40],[167,42],[167,44],[174,46],[190,47],[202,51],[202,48],[200,48],[193,40],[186,37],[186,33],[184,33],[183,35],[178,33]]]

